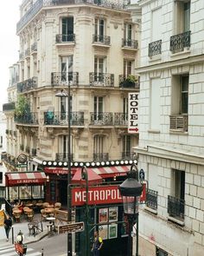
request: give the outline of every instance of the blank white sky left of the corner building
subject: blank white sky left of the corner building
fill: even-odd
[[[18,61],[19,39],[16,36],[16,23],[20,19],[19,6],[22,0],[6,0],[0,10],[0,111],[7,101],[7,88],[10,82],[9,67]]]

